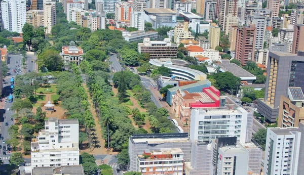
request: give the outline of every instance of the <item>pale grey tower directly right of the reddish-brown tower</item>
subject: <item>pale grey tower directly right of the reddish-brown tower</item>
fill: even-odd
[[[256,27],[256,40],[255,40],[255,49],[263,49],[264,45],[264,34],[266,29],[266,20],[264,16],[261,15],[248,15],[247,16],[247,25],[255,24]]]

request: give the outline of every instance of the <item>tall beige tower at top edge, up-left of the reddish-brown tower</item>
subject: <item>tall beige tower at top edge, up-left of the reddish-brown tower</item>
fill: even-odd
[[[225,34],[228,34],[232,25],[238,24],[238,1],[220,0],[219,25]]]

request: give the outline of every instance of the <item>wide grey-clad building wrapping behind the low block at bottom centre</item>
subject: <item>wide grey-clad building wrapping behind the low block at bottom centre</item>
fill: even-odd
[[[180,148],[183,153],[183,160],[190,160],[191,141],[188,140],[187,133],[132,135],[129,138],[129,169],[131,171],[137,170],[139,166],[137,164],[138,155],[142,155],[144,150],[164,148]]]

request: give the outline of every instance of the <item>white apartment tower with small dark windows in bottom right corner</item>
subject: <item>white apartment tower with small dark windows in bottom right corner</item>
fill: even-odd
[[[299,125],[303,126],[302,123]],[[300,126],[300,127],[301,127]],[[265,148],[264,174],[302,174],[303,146],[301,129],[296,127],[268,128]]]

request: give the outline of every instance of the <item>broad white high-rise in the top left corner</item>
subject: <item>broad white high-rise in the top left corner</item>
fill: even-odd
[[[22,33],[26,23],[26,2],[24,0],[3,0],[1,2],[3,28]]]

